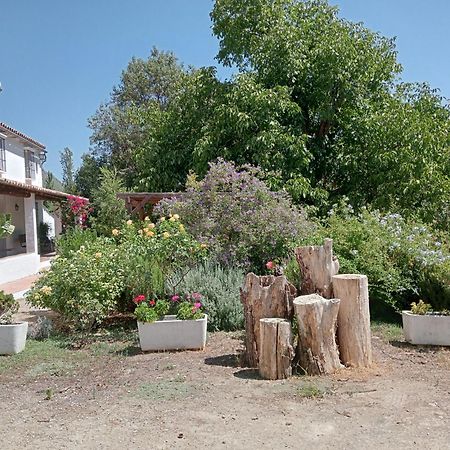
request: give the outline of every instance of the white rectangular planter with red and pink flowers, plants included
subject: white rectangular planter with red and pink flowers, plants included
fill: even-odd
[[[208,318],[199,293],[169,299],[138,295],[133,301],[143,351],[204,349]]]

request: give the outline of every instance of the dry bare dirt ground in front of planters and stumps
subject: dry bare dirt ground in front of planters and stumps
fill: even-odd
[[[273,382],[239,367],[240,338],[210,334],[203,352],[105,344],[3,368],[0,448],[450,448],[449,349],[374,336],[369,371]]]

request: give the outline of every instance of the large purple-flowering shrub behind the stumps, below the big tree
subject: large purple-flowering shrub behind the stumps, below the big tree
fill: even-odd
[[[284,192],[272,192],[253,167],[238,169],[219,159],[204,180],[189,177],[181,199],[163,200],[156,211],[180,214],[218,262],[256,272],[289,253],[299,234],[310,232],[304,214]]]

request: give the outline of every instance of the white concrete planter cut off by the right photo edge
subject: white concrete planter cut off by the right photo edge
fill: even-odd
[[[402,311],[406,342],[416,345],[450,345],[450,316]]]

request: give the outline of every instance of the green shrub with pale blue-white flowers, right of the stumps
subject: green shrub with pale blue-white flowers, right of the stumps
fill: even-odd
[[[371,306],[396,311],[426,298],[435,309],[450,306],[450,249],[426,225],[399,214],[383,215],[345,206],[331,211],[322,228],[309,239],[333,239],[341,273],[368,276]]]

